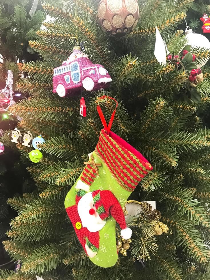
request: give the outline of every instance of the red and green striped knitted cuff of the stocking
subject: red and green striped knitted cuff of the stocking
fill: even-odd
[[[95,152],[107,165],[118,183],[132,191],[139,181],[152,170],[143,155],[112,131],[101,130]]]

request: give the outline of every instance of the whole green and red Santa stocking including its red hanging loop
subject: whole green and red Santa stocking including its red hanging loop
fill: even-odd
[[[101,267],[111,267],[118,258],[116,221],[122,238],[129,239],[132,231],[126,226],[122,207],[152,166],[141,153],[110,131],[115,111],[107,127],[99,105],[97,110],[104,129],[95,151],[89,154],[83,172],[66,196],[65,208],[90,260]]]

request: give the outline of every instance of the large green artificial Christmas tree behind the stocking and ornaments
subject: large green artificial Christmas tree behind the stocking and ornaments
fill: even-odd
[[[21,79],[18,87],[30,92],[31,98],[12,109],[23,118],[18,128],[29,130],[33,137],[41,133],[45,143],[40,144],[41,161],[28,168],[37,190],[9,199],[19,215],[11,221],[7,232],[10,240],[4,246],[16,260],[21,259],[22,267],[17,275],[1,271],[1,278],[33,279],[35,273],[43,272],[45,280],[208,279],[210,131],[199,116],[210,100],[210,71],[202,67],[204,81],[192,89],[189,71],[170,61],[159,65],[154,57],[156,26],[171,54],[178,55],[187,45],[177,26],[192,1],[139,1],[139,23],[121,38],[109,37],[98,24],[98,3],[45,3],[43,8],[54,21],[44,23],[46,29],[37,32],[40,38],[29,42],[43,61],[24,64],[23,71],[30,78]],[[112,79],[110,90],[82,92],[87,109],[87,117],[82,119],[80,97],[64,99],[52,93],[53,69],[69,57],[77,41],[91,61],[103,65]],[[191,53],[198,63],[209,59],[208,49],[191,48]],[[133,217],[127,225],[133,231],[132,242],[125,242],[130,245],[127,256],[122,250],[123,255],[119,254],[110,268],[89,261],[64,207],[67,193],[101,137],[97,104],[105,119],[115,110],[113,100],[101,99],[104,95],[119,102],[112,131],[153,166],[130,199],[155,200],[161,212],[158,222],[147,218],[146,208]],[[8,143],[8,135],[0,141]],[[17,147],[28,157],[29,148]],[[123,206],[127,197],[117,199]],[[120,231],[117,225],[117,238],[121,238]],[[103,238],[108,240],[109,235]],[[119,241],[118,247],[120,242],[123,244]],[[104,246],[101,254],[109,249]]]

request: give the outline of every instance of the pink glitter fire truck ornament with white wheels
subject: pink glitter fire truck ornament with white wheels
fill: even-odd
[[[87,91],[105,89],[111,81],[102,65],[93,64],[80,47],[74,47],[67,61],[54,69],[53,93],[66,97],[79,93],[82,87]]]

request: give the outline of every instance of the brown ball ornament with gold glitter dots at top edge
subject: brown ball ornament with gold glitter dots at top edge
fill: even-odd
[[[99,24],[110,35],[121,37],[135,29],[139,20],[137,0],[101,0],[98,5]]]

